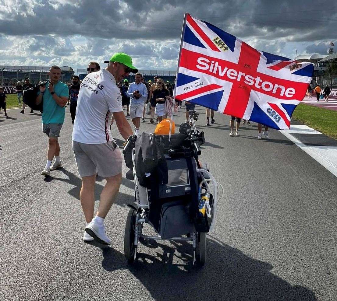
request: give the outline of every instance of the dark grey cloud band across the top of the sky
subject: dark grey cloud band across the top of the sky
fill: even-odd
[[[30,8],[33,15],[8,14],[7,19],[0,20],[0,30],[9,35],[56,33],[118,39],[179,38],[183,14],[188,10],[239,37],[272,34],[277,38],[292,32],[310,41],[319,32],[322,39],[334,38],[336,2],[321,1],[320,7],[330,9],[320,14],[314,9],[316,5],[313,0],[296,3],[286,0],[277,4],[269,0],[84,0],[78,6],[66,3],[54,8],[47,2]],[[310,8],[312,11],[308,12]],[[25,11],[27,6],[21,9]]]

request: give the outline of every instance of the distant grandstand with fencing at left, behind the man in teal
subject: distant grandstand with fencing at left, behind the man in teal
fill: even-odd
[[[51,67],[51,66],[50,66]],[[1,71],[1,86],[16,86],[17,81],[23,81],[26,77],[34,83],[40,80],[49,79],[48,72],[50,67],[42,66],[0,66]],[[69,82],[74,70],[71,67],[60,67],[61,78],[63,82]]]

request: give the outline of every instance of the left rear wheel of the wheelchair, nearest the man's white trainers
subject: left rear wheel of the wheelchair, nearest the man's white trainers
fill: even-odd
[[[134,262],[134,227],[136,226],[136,211],[130,209],[126,218],[124,232],[124,256],[129,263]]]

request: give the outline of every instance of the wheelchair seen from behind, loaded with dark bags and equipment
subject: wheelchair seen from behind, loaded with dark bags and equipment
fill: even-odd
[[[130,163],[127,156],[132,158],[132,164],[127,164],[132,167],[126,177],[134,182],[136,201],[136,206],[128,205],[124,232],[124,255],[128,263],[136,262],[140,239],[190,241],[193,266],[203,266],[206,262],[206,233],[215,223],[219,183],[198,160],[205,137],[196,130],[195,112],[189,114],[192,127],[182,124],[179,133],[171,135],[170,142],[168,135],[147,134],[151,143],[160,148],[165,168],[158,166],[145,175],[143,170],[137,170],[135,141],[139,137],[130,136],[123,149],[126,162]],[[158,175],[161,169],[165,181]],[[145,224],[153,227],[157,235],[143,234]]]

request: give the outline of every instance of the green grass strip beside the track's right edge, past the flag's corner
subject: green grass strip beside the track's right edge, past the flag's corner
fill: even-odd
[[[337,139],[337,111],[301,103],[296,107],[292,118]]]

